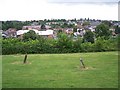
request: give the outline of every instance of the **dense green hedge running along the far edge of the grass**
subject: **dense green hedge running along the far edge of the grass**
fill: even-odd
[[[78,52],[101,52],[116,51],[117,38],[105,40],[97,38],[94,43],[82,42],[81,38],[73,40],[65,35],[59,39],[44,39],[21,41],[20,39],[3,39],[2,54],[24,54],[24,53],[78,53]]]

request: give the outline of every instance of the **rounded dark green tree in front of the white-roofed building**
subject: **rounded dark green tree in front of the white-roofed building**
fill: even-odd
[[[23,35],[23,41],[29,41],[30,39],[35,40],[37,38],[38,38],[38,35],[33,30],[30,30],[29,32]]]

